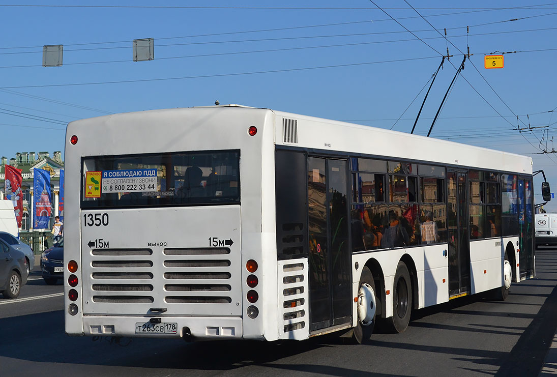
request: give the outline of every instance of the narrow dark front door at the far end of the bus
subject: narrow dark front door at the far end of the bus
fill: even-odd
[[[519,270],[521,278],[534,277],[534,237],[532,233],[532,181],[519,178]]]

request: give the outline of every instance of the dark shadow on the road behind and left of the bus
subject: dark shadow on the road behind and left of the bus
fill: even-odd
[[[64,331],[62,310],[0,319],[0,364],[35,361],[46,365],[104,365],[133,368],[232,370],[262,365],[319,347],[318,340],[249,340],[186,343],[145,337],[75,337]],[[9,359],[6,359],[9,358]],[[10,360],[12,359],[12,360]],[[7,364],[4,364],[7,366]],[[48,368],[46,369],[48,370]],[[95,370],[95,368],[94,368]]]

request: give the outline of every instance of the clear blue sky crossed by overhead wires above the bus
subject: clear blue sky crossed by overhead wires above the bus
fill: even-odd
[[[443,35],[447,28],[446,41],[404,0],[374,2],[402,26],[368,0],[4,2],[0,155],[63,151],[71,120],[215,100],[409,132],[427,87],[404,110],[440,54],[448,47],[458,67],[469,46],[432,136],[530,155],[557,192],[557,153],[536,154],[540,141],[557,149],[557,3],[408,0]],[[154,38],[155,60],[132,61],[136,38]],[[42,46],[57,44],[63,66],[42,67]],[[520,52],[485,69],[484,55],[496,51]],[[444,63],[415,133],[427,134],[455,72]],[[170,80],[138,81],[153,79]],[[517,124],[539,128],[520,133]],[[557,199],[546,209],[557,210]]]

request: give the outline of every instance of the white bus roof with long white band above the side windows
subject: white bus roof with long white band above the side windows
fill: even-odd
[[[464,166],[479,169],[492,169],[522,174],[532,173],[532,159],[529,156],[508,153],[480,146],[455,143],[454,141],[427,138],[425,136],[392,131],[373,126],[358,125],[323,119],[314,116],[292,114],[261,107],[237,104],[198,106],[177,109],[146,110],[125,114],[105,115],[95,118],[100,123],[115,121],[116,117],[137,119],[139,114],[150,116],[168,116],[190,111],[227,111],[234,109],[234,116],[243,116],[252,111],[272,112],[275,116],[275,144],[288,147],[300,147],[335,154],[376,156],[383,159],[402,159],[426,161],[430,163]],[[230,114],[226,115],[227,117]],[[224,115],[223,115],[224,116]],[[121,119],[121,118],[120,118]],[[262,120],[264,117],[261,118]],[[92,119],[71,122],[72,126]],[[84,125],[85,125],[84,124]],[[295,127],[294,127],[295,126]],[[290,127],[290,128],[289,128]],[[69,125],[70,128],[70,125]],[[288,131],[287,131],[288,129]],[[292,131],[295,129],[295,133]],[[295,136],[295,138],[292,138]]]

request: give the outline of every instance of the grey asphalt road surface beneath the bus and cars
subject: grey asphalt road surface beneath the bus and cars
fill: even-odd
[[[62,285],[31,280],[18,300],[0,298],[0,376],[537,376],[557,327],[557,250],[539,250],[536,268],[505,302],[463,297],[420,310],[403,334],[374,334],[369,345],[69,337]]]

